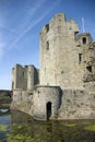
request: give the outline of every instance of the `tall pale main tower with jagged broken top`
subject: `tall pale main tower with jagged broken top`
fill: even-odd
[[[83,87],[83,67],[79,66],[73,20],[57,14],[40,32],[40,84],[62,88]]]

